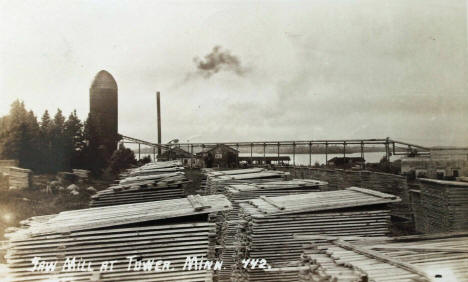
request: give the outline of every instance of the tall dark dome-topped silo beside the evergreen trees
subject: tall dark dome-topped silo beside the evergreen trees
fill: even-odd
[[[114,77],[102,70],[89,89],[89,113],[99,128],[97,142],[111,154],[118,142],[118,97]]]

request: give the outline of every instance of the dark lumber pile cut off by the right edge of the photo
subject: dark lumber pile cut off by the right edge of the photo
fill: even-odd
[[[435,179],[419,182],[419,197],[412,192],[416,231],[468,230],[468,183]]]

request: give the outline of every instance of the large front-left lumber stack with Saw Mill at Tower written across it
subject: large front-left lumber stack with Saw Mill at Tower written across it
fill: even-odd
[[[212,269],[183,270],[188,256],[212,260],[217,213],[231,208],[222,195],[190,196],[89,208],[40,216],[6,234],[11,281],[212,281]],[[34,257],[55,263],[51,272],[31,271]],[[129,268],[129,259],[133,264]],[[85,262],[69,269],[67,258]],[[142,264],[150,264],[144,271]],[[156,261],[170,261],[166,271]],[[112,271],[100,271],[114,261]],[[88,264],[91,264],[88,269]],[[137,267],[138,266],[138,267]],[[158,265],[161,269],[162,265]],[[147,269],[148,270],[148,269]]]

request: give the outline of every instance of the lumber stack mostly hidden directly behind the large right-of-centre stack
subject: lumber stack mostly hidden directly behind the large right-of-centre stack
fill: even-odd
[[[231,281],[232,267],[235,265],[236,233],[240,224],[239,203],[261,197],[304,194],[320,192],[327,183],[311,179],[293,179],[264,183],[234,184],[225,187],[225,195],[232,203],[232,210],[222,213],[225,237],[222,241],[219,257],[224,269],[219,272],[219,281]]]

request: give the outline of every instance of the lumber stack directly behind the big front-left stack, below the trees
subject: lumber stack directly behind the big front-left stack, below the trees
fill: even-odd
[[[93,195],[90,207],[183,198],[187,183],[183,172],[128,177]]]

